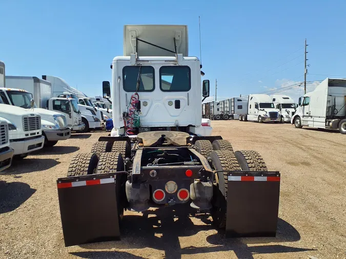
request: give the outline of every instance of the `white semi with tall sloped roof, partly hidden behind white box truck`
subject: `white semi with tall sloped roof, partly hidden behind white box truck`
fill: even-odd
[[[78,110],[82,113],[82,130],[80,133],[88,132],[90,129],[102,128],[101,121],[103,120],[97,111],[88,105],[79,103],[79,97],[87,97],[83,92],[76,90],[62,78],[57,76],[43,75],[42,79],[47,80],[52,85],[52,97],[58,98],[73,98],[78,103]]]

